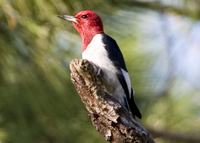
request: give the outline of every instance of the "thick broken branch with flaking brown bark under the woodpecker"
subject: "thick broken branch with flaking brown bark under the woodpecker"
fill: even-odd
[[[106,92],[99,67],[84,59],[70,63],[75,85],[91,121],[112,143],[154,143],[149,132],[118,101]],[[98,73],[98,74],[97,74]],[[98,75],[98,76],[97,76]]]

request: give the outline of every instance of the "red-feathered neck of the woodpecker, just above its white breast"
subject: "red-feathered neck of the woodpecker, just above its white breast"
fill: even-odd
[[[103,33],[102,30],[90,30],[90,32],[81,33],[82,38],[82,52],[84,52],[87,46],[90,44],[95,35]]]

